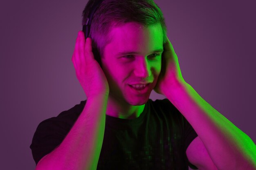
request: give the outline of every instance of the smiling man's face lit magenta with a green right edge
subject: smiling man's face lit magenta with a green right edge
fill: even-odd
[[[101,62],[110,97],[133,106],[145,104],[161,71],[161,25],[144,27],[129,22],[112,28],[109,35],[112,41],[105,46]],[[135,84],[143,87],[133,87]]]

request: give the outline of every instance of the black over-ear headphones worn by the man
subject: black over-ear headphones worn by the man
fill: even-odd
[[[83,33],[85,35],[85,40],[86,40],[86,38],[89,37],[89,34],[90,34],[90,27],[91,27],[91,23],[92,23],[92,17],[93,17],[95,11],[97,10],[97,8],[99,7],[99,5],[101,4],[102,1],[103,0],[95,0],[94,4],[92,5],[92,10],[89,11],[85,23],[83,23]],[[93,52],[95,60],[101,66],[101,57],[100,57],[99,51],[96,48],[92,48],[92,52]],[[101,66],[101,68],[102,68],[102,66]]]

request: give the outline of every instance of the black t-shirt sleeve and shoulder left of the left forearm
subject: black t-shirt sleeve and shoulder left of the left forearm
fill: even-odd
[[[36,165],[40,159],[61,144],[81,114],[85,103],[86,100],[81,101],[80,104],[61,112],[57,117],[46,119],[38,125],[30,145]]]

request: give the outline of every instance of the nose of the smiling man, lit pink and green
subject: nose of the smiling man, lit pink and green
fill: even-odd
[[[136,77],[142,77],[142,78],[146,78],[151,75],[150,64],[144,57],[139,59],[136,62],[135,68],[134,68],[134,74]]]

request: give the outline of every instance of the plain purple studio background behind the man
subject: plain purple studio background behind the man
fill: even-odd
[[[186,82],[255,142],[255,2],[155,2]],[[34,169],[38,124],[86,98],[71,62],[86,3],[0,2],[1,169]]]

